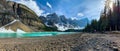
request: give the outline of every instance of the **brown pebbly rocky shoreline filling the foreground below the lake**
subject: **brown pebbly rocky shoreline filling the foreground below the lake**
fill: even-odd
[[[79,33],[0,39],[0,51],[119,51],[119,34]]]

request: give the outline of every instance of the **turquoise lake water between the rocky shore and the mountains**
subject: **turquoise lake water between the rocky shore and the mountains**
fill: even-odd
[[[0,33],[0,38],[25,38],[25,37],[41,37],[56,36],[61,34],[74,34],[76,32],[32,32],[32,33]]]

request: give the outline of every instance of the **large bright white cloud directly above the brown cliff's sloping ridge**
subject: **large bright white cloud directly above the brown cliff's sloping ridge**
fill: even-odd
[[[17,3],[21,3],[33,10],[38,16],[40,16],[44,11],[39,8],[34,0],[12,0]]]

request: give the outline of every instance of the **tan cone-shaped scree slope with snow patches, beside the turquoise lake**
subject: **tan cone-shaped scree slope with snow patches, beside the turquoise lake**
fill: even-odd
[[[20,22],[19,20],[14,20],[12,21],[11,23],[9,24],[6,24],[5,26],[1,27],[0,29],[6,29],[6,30],[12,30],[14,32],[17,32],[17,30],[22,30],[22,31],[25,31],[25,32],[32,32],[32,30],[24,25],[22,22]],[[4,30],[3,30],[4,31]]]

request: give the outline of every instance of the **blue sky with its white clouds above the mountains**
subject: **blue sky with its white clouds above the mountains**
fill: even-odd
[[[55,12],[67,18],[92,20],[99,19],[105,0],[29,0],[31,3],[28,0],[27,2],[25,0],[14,1],[19,1],[19,3],[24,1],[25,5],[32,8],[38,15]]]

